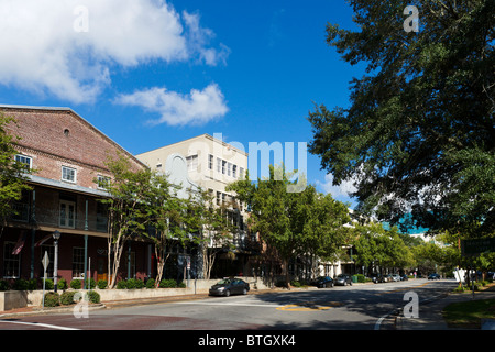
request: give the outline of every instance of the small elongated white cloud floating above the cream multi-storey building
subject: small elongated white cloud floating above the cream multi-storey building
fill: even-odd
[[[151,124],[201,124],[223,117],[229,110],[223,94],[216,84],[210,84],[202,90],[191,89],[189,95],[153,87],[121,95],[116,102],[158,113],[160,119],[148,121]]]

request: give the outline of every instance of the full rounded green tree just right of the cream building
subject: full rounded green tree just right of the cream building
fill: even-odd
[[[234,190],[239,200],[252,210],[249,227],[260,232],[273,256],[278,255],[286,264],[298,254],[334,258],[341,246],[352,239],[350,229],[343,227],[351,220],[348,206],[330,195],[317,193],[314,186],[298,189],[298,193],[288,191],[297,187],[293,176],[283,165],[271,166],[266,179],[252,183],[248,174],[245,179],[226,189]],[[305,179],[298,182],[306,184]]]

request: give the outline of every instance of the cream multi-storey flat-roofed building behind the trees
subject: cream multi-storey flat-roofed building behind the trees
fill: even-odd
[[[182,184],[183,193],[187,191],[189,186],[197,185],[210,191],[217,206],[228,209],[229,221],[239,229],[238,233],[233,233],[237,250],[234,254],[224,253],[218,257],[212,275],[230,276],[250,271],[245,255],[246,212],[243,205],[235,199],[234,193],[226,190],[227,185],[244,176],[248,169],[248,153],[209,134],[201,134],[139,154],[136,157],[152,169],[167,174],[170,182]],[[182,170],[184,160],[187,175],[183,175]]]

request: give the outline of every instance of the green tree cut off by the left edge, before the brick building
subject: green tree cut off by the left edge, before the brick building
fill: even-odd
[[[7,127],[15,127],[15,120],[0,113],[0,228],[15,212],[13,204],[21,199],[22,191],[30,189],[25,183],[31,173],[28,165],[16,162],[15,143],[19,138],[9,134]]]

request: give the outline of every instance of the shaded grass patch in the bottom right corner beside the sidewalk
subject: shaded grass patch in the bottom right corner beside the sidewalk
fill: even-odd
[[[495,319],[495,299],[450,304],[442,314],[449,328],[480,329],[482,319]]]

